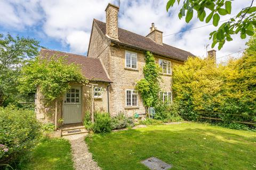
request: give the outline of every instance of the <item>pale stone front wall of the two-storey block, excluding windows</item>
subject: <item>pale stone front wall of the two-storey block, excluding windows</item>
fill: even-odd
[[[110,47],[110,71],[109,76],[113,81],[110,86],[110,113],[111,115],[118,114],[118,112],[124,112],[129,116],[134,113],[143,114],[146,113],[145,107],[142,104],[142,99],[138,98],[138,107],[125,107],[126,89],[134,89],[135,84],[144,78],[143,66],[145,66],[145,54],[141,51],[122,48],[122,47]],[[125,50],[137,53],[137,65],[138,70],[125,68]],[[170,58],[155,56],[155,62],[158,64],[159,58],[171,62],[171,67],[175,64],[182,64],[182,62],[172,60]],[[163,91],[172,91],[171,88],[171,75],[162,74],[163,81],[161,82],[161,88]]]

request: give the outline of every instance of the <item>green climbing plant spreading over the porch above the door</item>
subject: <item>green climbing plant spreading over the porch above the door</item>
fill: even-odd
[[[22,93],[34,92],[40,87],[46,100],[59,98],[68,89],[70,82],[86,83],[81,68],[68,64],[65,57],[51,56],[49,60],[36,58],[22,68],[19,90]]]

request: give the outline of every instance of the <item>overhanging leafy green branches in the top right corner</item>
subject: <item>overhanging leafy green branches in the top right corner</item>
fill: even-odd
[[[174,5],[175,0],[169,0],[166,4],[166,10],[168,11],[170,7]],[[180,4],[180,0],[177,0]],[[233,40],[231,36],[240,33],[242,39],[247,36],[252,36],[254,29],[256,28],[256,6],[252,6],[253,1],[250,6],[243,8],[235,17],[224,22],[217,31],[210,33],[210,39],[212,39],[212,48],[218,45],[221,49],[226,41]],[[197,18],[201,21],[208,23],[212,20],[212,24],[217,27],[220,22],[220,15],[231,14],[231,1],[229,0],[184,0],[183,5],[178,14],[181,19],[186,16],[186,22],[190,22],[193,18],[193,11],[197,12]],[[187,13],[186,13],[187,11]],[[206,14],[206,12],[210,12]]]

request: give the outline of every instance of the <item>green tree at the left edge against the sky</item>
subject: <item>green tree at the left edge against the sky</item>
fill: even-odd
[[[22,98],[17,90],[20,69],[23,63],[38,55],[39,47],[35,39],[0,33],[0,106]]]

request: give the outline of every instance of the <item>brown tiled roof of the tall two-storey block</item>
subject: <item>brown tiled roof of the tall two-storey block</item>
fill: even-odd
[[[106,35],[106,23],[101,22],[99,20],[93,20],[102,33]],[[190,52],[185,50],[169,46],[167,44],[159,45],[155,43],[150,38],[138,35],[137,33],[133,33],[122,28],[118,28],[118,36],[119,36],[119,43],[129,45],[135,48],[139,48],[142,50],[148,50],[158,55],[163,55],[166,57],[170,57],[176,60],[185,61],[187,60],[188,56],[195,56]],[[115,41],[115,40],[114,40]],[[118,41],[116,41],[118,43]]]

